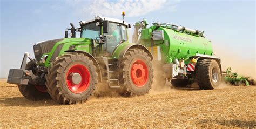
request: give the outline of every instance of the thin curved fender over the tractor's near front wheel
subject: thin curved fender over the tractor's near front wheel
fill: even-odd
[[[99,63],[90,53],[88,53],[86,51],[80,51],[80,50],[67,50],[65,52],[83,53],[84,55],[88,56],[92,60],[93,64],[96,65],[96,72],[98,73],[98,80],[99,80],[99,82],[102,82],[102,72],[100,71]]]

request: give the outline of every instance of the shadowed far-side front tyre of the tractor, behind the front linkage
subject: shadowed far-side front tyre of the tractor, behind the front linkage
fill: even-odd
[[[32,70],[34,64],[30,61],[26,64],[26,70]],[[50,99],[46,86],[35,86],[28,83],[28,85],[18,85],[19,92],[28,100],[39,101]]]

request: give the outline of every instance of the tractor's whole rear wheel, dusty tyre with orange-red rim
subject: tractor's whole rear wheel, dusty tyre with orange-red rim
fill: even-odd
[[[143,95],[149,92],[153,83],[153,67],[150,57],[140,49],[127,51],[121,59],[120,84],[125,95]]]

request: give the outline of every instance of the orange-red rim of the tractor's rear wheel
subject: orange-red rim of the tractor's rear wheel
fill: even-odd
[[[143,87],[147,82],[149,71],[147,65],[142,60],[136,60],[131,67],[131,79],[137,87]]]

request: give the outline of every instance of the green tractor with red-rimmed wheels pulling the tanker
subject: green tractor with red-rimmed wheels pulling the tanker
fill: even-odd
[[[21,69],[10,69],[8,83],[17,84],[26,99],[62,104],[84,103],[97,83],[125,95],[146,94],[153,83],[153,56],[143,45],[128,42],[129,28],[124,19],[98,16],[81,21],[79,28],[71,23],[65,38],[34,45],[35,59],[25,52]]]

